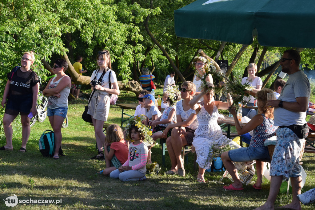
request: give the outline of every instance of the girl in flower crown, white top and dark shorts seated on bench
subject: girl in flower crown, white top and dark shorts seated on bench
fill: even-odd
[[[170,124],[176,123],[176,102],[180,100],[180,93],[174,91],[174,88],[171,86],[167,87],[167,93],[168,98],[166,99],[166,103],[169,103],[169,107],[164,109],[160,117],[149,123],[149,125],[153,127],[153,135],[151,136],[153,141],[163,138],[162,134],[165,128]],[[171,131],[172,129],[167,133],[167,137],[171,135]],[[153,146],[148,147],[148,149],[150,150],[152,147]],[[151,163],[151,158],[148,158],[148,164]]]

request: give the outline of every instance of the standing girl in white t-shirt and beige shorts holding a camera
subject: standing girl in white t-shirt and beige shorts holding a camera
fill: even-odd
[[[104,121],[107,121],[109,113],[109,94],[119,95],[119,87],[116,74],[111,70],[111,57],[108,50],[98,52],[97,65],[100,68],[92,73],[90,79],[92,92],[95,92],[91,96],[88,114],[92,117],[98,154],[91,159],[104,159],[105,134],[103,133],[103,125]],[[111,87],[109,86],[110,83]]]

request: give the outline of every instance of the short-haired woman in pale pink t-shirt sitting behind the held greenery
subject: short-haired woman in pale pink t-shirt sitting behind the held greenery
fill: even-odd
[[[252,89],[252,92],[255,94],[258,91],[261,90],[262,87],[262,80],[260,77],[255,76],[257,72],[257,65],[254,63],[250,63],[247,66],[247,72],[248,72],[248,77],[244,77],[242,79],[241,84],[244,85],[245,83],[248,83],[248,85],[253,86],[254,88]],[[247,93],[250,93],[249,91],[245,91]],[[254,95],[255,96],[255,95]],[[243,100],[247,102],[248,106],[254,106],[254,97],[249,95],[249,97],[244,96]],[[252,111],[253,110],[253,111]],[[251,112],[249,112],[251,111]],[[247,116],[250,119],[252,119],[256,115],[255,109],[246,109],[242,108],[242,116]]]

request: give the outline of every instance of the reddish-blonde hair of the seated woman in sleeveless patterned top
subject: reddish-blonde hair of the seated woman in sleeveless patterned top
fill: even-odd
[[[263,88],[256,93],[258,114],[265,114],[267,118],[273,119],[273,108],[267,107],[267,93],[273,93],[273,91]]]

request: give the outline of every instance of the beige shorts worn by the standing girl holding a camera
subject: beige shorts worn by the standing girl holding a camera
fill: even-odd
[[[89,103],[88,114],[94,119],[107,121],[110,106],[110,98],[108,94],[95,92]]]

